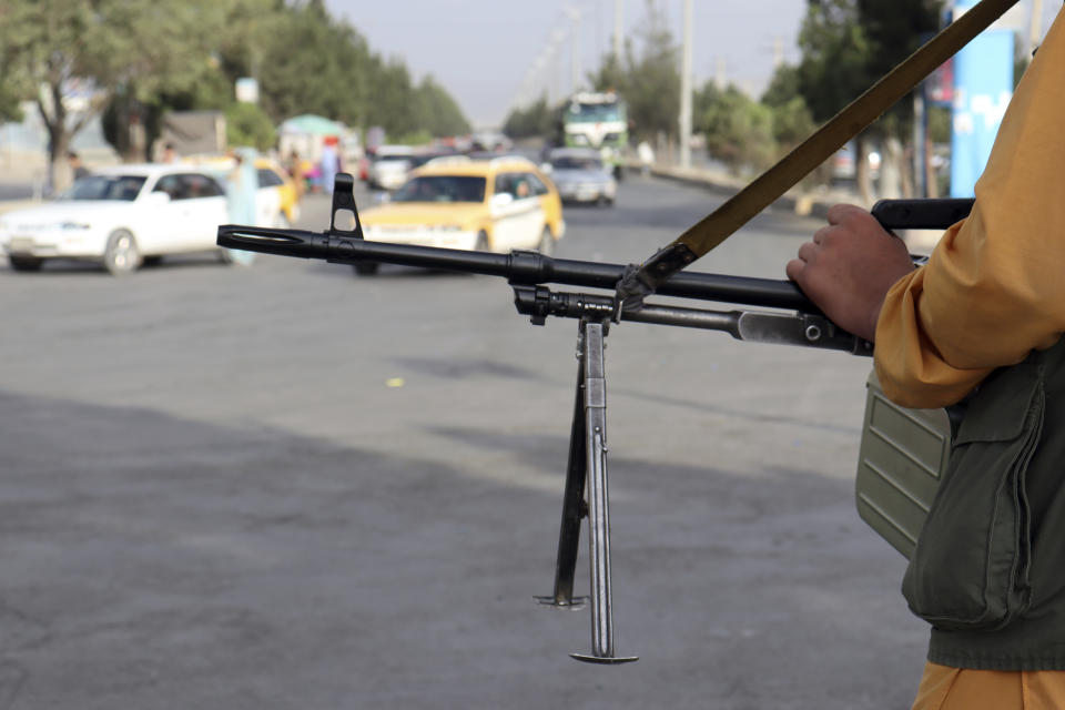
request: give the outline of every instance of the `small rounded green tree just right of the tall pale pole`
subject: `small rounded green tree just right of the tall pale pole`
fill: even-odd
[[[717,92],[699,115],[707,149],[734,174],[761,170],[774,158],[773,110],[736,87]]]

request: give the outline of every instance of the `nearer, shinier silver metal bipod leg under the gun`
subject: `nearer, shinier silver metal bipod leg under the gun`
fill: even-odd
[[[585,454],[588,479],[588,562],[591,582],[591,653],[570,653],[590,663],[627,663],[616,656],[610,595],[610,495],[607,485],[607,378],[604,339],[607,322],[581,320],[585,381]]]

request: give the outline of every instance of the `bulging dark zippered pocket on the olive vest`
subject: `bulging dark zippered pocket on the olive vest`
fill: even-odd
[[[991,375],[970,402],[902,582],[911,611],[943,630],[994,630],[1030,602],[1025,474],[1043,430],[1042,367]]]

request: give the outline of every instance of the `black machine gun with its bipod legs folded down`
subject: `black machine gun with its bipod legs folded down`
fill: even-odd
[[[964,217],[970,207],[971,201],[965,200],[882,201],[873,213],[888,229],[915,227],[950,224]],[[354,216],[354,229],[337,227],[337,216],[345,212]],[[854,355],[872,354],[871,343],[829,321],[790,281],[679,273],[660,284],[657,293],[774,311],[717,311],[650,303],[642,303],[633,310],[622,307],[615,294],[557,292],[545,285],[612,291],[627,273],[631,273],[631,266],[552,258],[528,251],[495,254],[365,241],[355,205],[354,180],[345,173],[336,176],[329,229],[325,232],[223,225],[219,227],[217,244],[339,264],[377,262],[501,276],[514,290],[518,313],[528,315],[532,324],[542,325],[551,316],[578,321],[577,384],[555,586],[551,595],[536,599],[542,605],[565,609],[579,609],[590,601],[591,651],[571,653],[581,661],[623,663],[637,660],[636,657],[618,656],[613,642],[604,368],[604,344],[610,325],[633,321],[722,331],[741,341],[819,347]],[[589,525],[591,589],[589,597],[575,597],[574,577],[582,517],[588,518]]]

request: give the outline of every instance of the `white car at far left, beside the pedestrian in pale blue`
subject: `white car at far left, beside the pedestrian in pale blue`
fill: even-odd
[[[16,271],[75,258],[121,275],[145,258],[217,251],[219,225],[226,222],[225,190],[210,172],[115,165],[78,180],[52,202],[0,215],[0,247]]]

